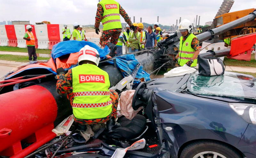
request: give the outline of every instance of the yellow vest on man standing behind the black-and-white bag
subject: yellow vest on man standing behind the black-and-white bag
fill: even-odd
[[[183,66],[186,64],[195,54],[195,49],[191,47],[192,40],[196,38],[196,36],[191,33],[188,35],[187,39],[182,43],[183,36],[180,37],[180,49],[179,49],[179,60],[178,64],[180,66]],[[194,60],[194,62],[191,64],[191,67],[196,66],[197,59]]]

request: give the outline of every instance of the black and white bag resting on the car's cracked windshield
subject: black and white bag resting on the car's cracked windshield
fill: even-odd
[[[200,57],[198,55],[198,75],[215,76],[223,75],[225,72],[225,63],[216,57]]]

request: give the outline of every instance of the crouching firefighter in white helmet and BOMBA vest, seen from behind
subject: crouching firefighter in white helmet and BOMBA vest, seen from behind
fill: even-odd
[[[56,89],[59,94],[68,93],[78,130],[86,130],[84,125],[107,122],[110,133],[120,126],[115,120],[118,94],[108,89],[109,76],[98,67],[99,61],[98,51],[84,46],[78,55],[78,66],[66,74],[63,68],[57,69]]]

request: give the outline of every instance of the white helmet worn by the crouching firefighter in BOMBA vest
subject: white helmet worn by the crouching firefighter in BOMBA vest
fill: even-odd
[[[86,45],[79,51],[78,65],[80,65],[80,61],[84,60],[92,61],[98,66],[100,62],[100,54],[95,48]]]

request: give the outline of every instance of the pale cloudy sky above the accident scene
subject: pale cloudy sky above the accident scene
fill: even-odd
[[[31,24],[44,20],[52,24],[94,24],[99,0],[0,0],[0,21],[29,20]],[[193,23],[200,15],[200,25],[212,21],[223,0],[117,0],[135,21],[152,24],[159,16],[162,25],[176,24],[187,18]],[[256,0],[235,0],[231,11],[256,8]],[[124,22],[124,19],[121,18]]]

